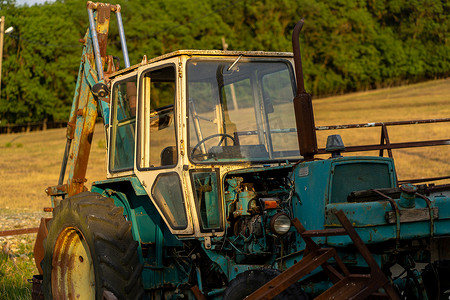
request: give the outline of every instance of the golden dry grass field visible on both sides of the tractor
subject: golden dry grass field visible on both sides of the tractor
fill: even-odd
[[[337,125],[450,117],[450,79],[314,100],[316,125]],[[449,123],[389,128],[391,142],[450,138]],[[319,146],[335,131],[318,132]],[[346,145],[379,143],[380,129],[340,130]],[[103,180],[105,136],[97,126],[87,186]],[[0,135],[0,208],[41,210],[50,206],[44,190],[56,185],[65,130]],[[450,175],[448,146],[394,152],[400,179]],[[367,153],[365,153],[367,154]],[[377,153],[371,153],[377,155]],[[349,154],[346,154],[349,155]]]

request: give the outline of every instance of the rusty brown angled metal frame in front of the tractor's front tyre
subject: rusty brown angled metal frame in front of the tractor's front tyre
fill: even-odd
[[[307,231],[300,221],[295,219],[293,224],[306,242],[305,255],[302,260],[253,292],[246,299],[272,299],[318,267],[324,269],[334,285],[314,299],[357,300],[365,299],[369,296],[387,296],[389,299],[400,299],[366,245],[345,216],[345,213],[338,211],[336,212],[336,217],[341,222],[343,229]],[[361,256],[366,261],[370,268],[369,274],[350,273],[334,248],[321,248],[312,240],[312,237],[344,234],[350,236]],[[341,272],[338,272],[328,263],[330,259],[336,261]],[[384,289],[385,294],[378,292],[380,288]]]

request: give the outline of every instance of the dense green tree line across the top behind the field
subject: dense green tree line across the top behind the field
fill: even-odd
[[[314,96],[450,75],[450,0],[117,0],[131,64],[179,49],[292,51],[301,18],[307,91]],[[0,125],[66,120],[86,1],[19,6],[6,17]],[[115,20],[108,53],[122,56]],[[123,63],[122,63],[123,66]]]

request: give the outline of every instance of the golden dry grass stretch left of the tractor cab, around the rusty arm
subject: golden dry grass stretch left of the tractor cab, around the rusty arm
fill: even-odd
[[[40,211],[51,206],[45,189],[58,183],[65,136],[65,129],[0,135],[1,209]],[[98,125],[86,175],[87,186],[106,178],[105,153],[105,135]]]

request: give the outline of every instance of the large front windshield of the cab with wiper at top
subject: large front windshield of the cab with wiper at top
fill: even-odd
[[[300,157],[288,61],[191,59],[187,73],[192,161]]]

